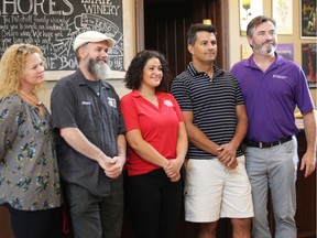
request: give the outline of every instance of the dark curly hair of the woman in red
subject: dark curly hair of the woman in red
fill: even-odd
[[[172,82],[172,74],[168,67],[168,63],[164,55],[156,51],[141,51],[139,52],[127,71],[124,83],[129,89],[139,89],[143,80],[143,69],[145,64],[151,58],[158,58],[162,65],[163,78],[156,91],[168,91],[170,83]]]

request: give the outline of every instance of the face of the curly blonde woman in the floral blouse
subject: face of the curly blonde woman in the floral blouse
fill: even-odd
[[[44,82],[44,63],[39,53],[28,56],[21,77],[21,85],[34,88]]]

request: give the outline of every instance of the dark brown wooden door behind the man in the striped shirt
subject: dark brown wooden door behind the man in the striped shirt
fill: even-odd
[[[229,69],[228,0],[136,0],[138,51],[160,51],[177,75],[190,61],[187,30],[204,19],[210,19],[218,30],[217,65]]]

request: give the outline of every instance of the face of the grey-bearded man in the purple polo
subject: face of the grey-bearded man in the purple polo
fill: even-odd
[[[274,55],[277,44],[276,30],[271,21],[259,24],[252,36],[248,36],[249,44],[254,53],[261,55]]]

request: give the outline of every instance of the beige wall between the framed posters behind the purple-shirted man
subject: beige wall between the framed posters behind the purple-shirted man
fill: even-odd
[[[263,1],[263,14],[272,17],[272,1]],[[230,67],[241,60],[241,44],[248,44],[245,36],[240,36],[239,25],[239,0],[229,0],[229,46],[230,46]],[[278,22],[277,26],[278,26]],[[316,40],[300,39],[299,25],[299,1],[293,0],[293,35],[278,35],[278,43],[292,43],[294,45],[294,61],[302,65],[302,43],[316,43]],[[310,89],[311,96],[317,106],[317,89]]]

